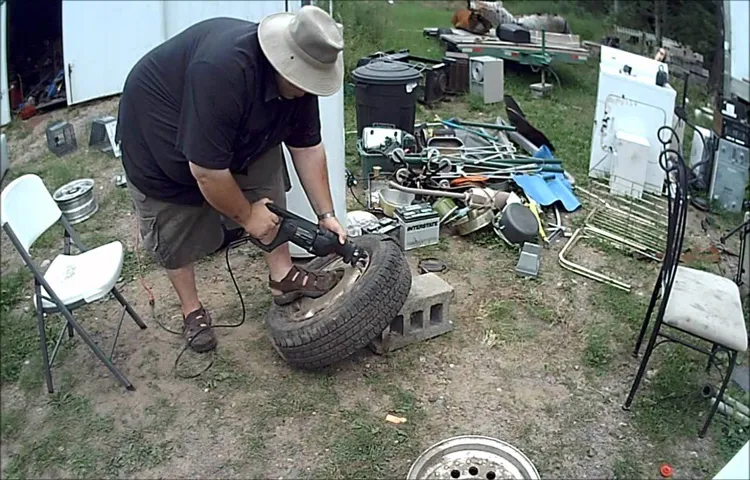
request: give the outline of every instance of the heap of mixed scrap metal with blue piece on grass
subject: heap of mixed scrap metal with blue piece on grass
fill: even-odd
[[[394,232],[411,250],[438,243],[441,228],[461,236],[486,230],[519,250],[519,274],[536,276],[540,246],[565,233],[560,210],[580,202],[552,143],[512,98],[506,106],[511,122],[452,118],[412,133],[363,129],[358,149],[368,195],[360,203],[367,211],[349,214],[350,235]]]

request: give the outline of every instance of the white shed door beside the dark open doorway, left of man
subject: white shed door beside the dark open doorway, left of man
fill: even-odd
[[[161,1],[62,4],[68,105],[121,93],[133,65],[165,40]]]

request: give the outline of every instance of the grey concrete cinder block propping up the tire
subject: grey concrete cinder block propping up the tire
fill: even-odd
[[[382,355],[450,332],[453,295],[453,287],[434,273],[414,277],[401,311],[370,348]]]

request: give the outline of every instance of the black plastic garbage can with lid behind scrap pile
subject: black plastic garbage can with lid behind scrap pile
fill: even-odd
[[[414,133],[417,86],[422,74],[404,62],[374,60],[352,72],[357,104],[357,137],[375,123]]]

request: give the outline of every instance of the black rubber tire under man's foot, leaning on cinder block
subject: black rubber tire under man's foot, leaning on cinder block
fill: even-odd
[[[289,307],[271,305],[266,316],[271,341],[290,365],[314,370],[344,360],[380,337],[406,302],[411,270],[398,243],[384,235],[356,242],[370,264],[346,295],[303,321],[291,320]],[[320,268],[329,258],[314,258],[306,267]]]

